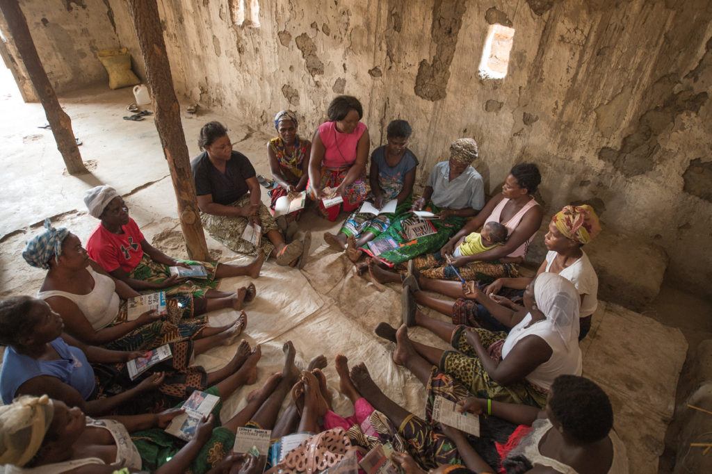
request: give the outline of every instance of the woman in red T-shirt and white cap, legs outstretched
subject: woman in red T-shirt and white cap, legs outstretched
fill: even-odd
[[[148,243],[137,223],[129,216],[123,198],[111,186],[89,189],[84,195],[84,204],[89,214],[100,220],[87,241],[89,256],[133,290],[165,290],[167,295],[188,293],[197,297],[218,298],[223,301],[214,305],[220,307],[229,307],[230,302],[239,307],[241,303],[238,304],[237,300],[249,301],[255,296],[254,285],[251,285],[249,292],[247,288],[241,288],[237,295],[215,290],[215,287],[220,278],[244,275],[257,278],[263,263],[260,256],[244,266],[175,260]],[[190,268],[189,265],[202,265],[206,278],[188,280],[171,275],[170,267]]]

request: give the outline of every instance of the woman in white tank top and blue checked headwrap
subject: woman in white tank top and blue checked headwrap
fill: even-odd
[[[33,267],[48,270],[37,296],[63,317],[67,332],[85,344],[115,350],[154,349],[205,337],[214,328],[206,328],[200,316],[222,307],[239,309],[248,293],[242,288],[239,295],[209,299],[174,294],[166,298],[167,320],[162,320],[166,315],[146,312],[128,321],[122,300],[139,293],[111,278],[66,228],[55,229],[46,220],[45,230],[28,241],[22,256]]]

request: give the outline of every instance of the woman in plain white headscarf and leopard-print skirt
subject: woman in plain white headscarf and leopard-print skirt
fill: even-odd
[[[479,295],[475,285],[466,292],[468,298]],[[525,290],[524,305],[528,313],[509,334],[431,320],[427,328],[454,351],[411,341],[405,326],[396,334],[381,323],[376,333],[397,342],[394,362],[421,379],[437,365],[480,398],[543,407],[557,376],[581,375],[580,297],[566,278],[542,273]],[[417,312],[416,324],[422,316]],[[518,316],[513,312],[512,317]]]

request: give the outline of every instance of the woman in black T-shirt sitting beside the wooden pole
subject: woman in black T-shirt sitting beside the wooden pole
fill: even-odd
[[[267,206],[260,200],[255,169],[244,154],[232,149],[227,129],[206,123],[198,140],[204,150],[191,162],[204,228],[231,251],[276,257],[278,265],[297,265],[303,243],[285,243]],[[261,226],[258,248],[242,238],[248,225]],[[258,251],[259,250],[259,251]]]

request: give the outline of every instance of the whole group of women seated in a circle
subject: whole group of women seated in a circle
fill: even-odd
[[[270,207],[305,192],[330,221],[348,213],[325,241],[376,285],[402,287],[402,325],[382,322],[375,332],[394,344],[393,361],[424,384],[426,416],[405,411],[365,364],[349,369],[343,355],[335,367],[354,414],[335,414],[321,372],[325,358],[315,357],[300,371],[295,348],[286,342],[283,371],[253,391],[236,416],[221,425],[218,404],[187,443],[163,431],[181,413],[174,407],[193,391],[222,400],[256,380],[260,348],[238,344],[247,326],[244,308],[258,297],[256,288],[219,291],[218,280],[258,278],[270,257],[301,268],[310,246],[310,231],[298,225],[303,210],[275,218],[261,202],[248,158],[232,149],[223,125],[210,122],[200,132],[203,152],[192,161],[201,221],[218,241],[256,253],[255,260],[229,265],[165,255],[147,242],[110,186],[85,194],[89,214],[100,220],[86,250],[68,229],[46,221],[23,252],[30,265],[47,270],[37,297],[0,301],[0,343],[7,347],[0,372],[0,463],[9,464],[6,472],[252,473],[265,464],[275,473],[355,472],[362,456],[384,443],[395,450],[390,461],[409,474],[627,472],[609,399],[581,376],[578,342],[597,307],[597,277],[582,248],[600,231],[595,211],[565,206],[557,212],[544,238],[548,254],[536,275],[525,277],[519,265],[544,216],[534,199],[541,181],[535,164],[515,164],[501,192],[486,201],[483,179],[472,166],[477,144],[456,139],[449,158],[434,166],[415,196],[419,161],[407,146],[407,121],[389,123],[387,143],[371,153],[367,173],[370,137],[360,102],[338,96],[327,115],[311,142],[298,135],[294,112],[276,115],[278,136],[267,144],[276,184],[269,190]],[[334,196],[342,202],[325,206]],[[365,201],[377,210],[396,202],[375,215],[361,211]],[[409,228],[419,221],[415,211],[429,213],[431,231],[414,237]],[[256,244],[243,237],[253,224],[263,236]],[[390,246],[369,245],[379,241]],[[171,275],[170,267],[189,265],[203,265],[206,278]],[[127,317],[128,299],[157,290],[167,295],[166,313]],[[429,317],[418,305],[451,320]],[[241,311],[236,322],[207,325],[207,313],[224,307]],[[414,326],[451,349],[410,339]],[[131,380],[127,362],[164,344],[172,359]],[[207,372],[192,363],[196,354],[221,344],[237,344],[226,367]],[[281,412],[288,396],[291,404]],[[480,436],[436,423],[438,397],[481,415]],[[266,459],[231,453],[242,426],[272,430]],[[280,455],[293,433],[308,436]]]

